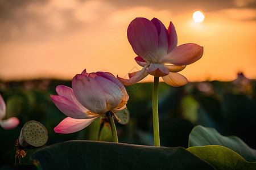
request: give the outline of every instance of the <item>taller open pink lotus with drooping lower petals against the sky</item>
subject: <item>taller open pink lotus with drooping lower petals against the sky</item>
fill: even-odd
[[[129,79],[117,77],[125,85],[132,85],[148,74],[162,76],[170,86],[183,86],[188,80],[177,73],[203,56],[203,46],[188,43],[177,46],[174,24],[168,29],[160,20],[135,18],[127,29],[127,37],[134,52],[135,61],[142,66],[141,71],[129,74]]]

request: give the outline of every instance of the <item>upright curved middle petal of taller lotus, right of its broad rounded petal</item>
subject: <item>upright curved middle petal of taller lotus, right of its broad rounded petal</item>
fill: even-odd
[[[167,54],[169,33],[164,27],[164,24],[159,19],[153,18],[151,22],[155,25],[158,31],[158,59]]]

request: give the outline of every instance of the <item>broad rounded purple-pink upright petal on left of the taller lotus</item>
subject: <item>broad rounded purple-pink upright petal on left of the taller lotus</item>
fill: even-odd
[[[150,20],[135,18],[129,24],[127,37],[138,56],[144,58],[145,61],[154,59],[152,56],[156,56],[158,50],[158,32]]]

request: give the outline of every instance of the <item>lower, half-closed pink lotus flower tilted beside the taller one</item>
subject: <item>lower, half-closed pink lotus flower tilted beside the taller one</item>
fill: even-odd
[[[104,113],[126,108],[129,99],[123,84],[107,72],[86,73],[84,70],[73,78],[72,88],[57,86],[58,95],[51,95],[56,107],[68,116],[56,126],[56,133],[82,130]]]

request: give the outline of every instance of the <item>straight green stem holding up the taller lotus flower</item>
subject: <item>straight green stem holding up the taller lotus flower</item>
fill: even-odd
[[[155,146],[160,146],[159,120],[158,120],[158,85],[159,85],[159,78],[155,77],[154,88],[153,88],[153,102],[152,102]]]

